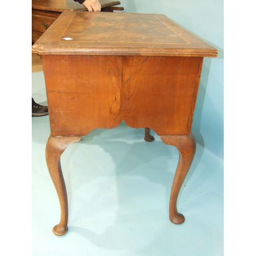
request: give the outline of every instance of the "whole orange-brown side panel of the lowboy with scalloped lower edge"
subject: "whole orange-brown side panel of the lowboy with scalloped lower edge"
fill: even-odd
[[[87,135],[98,127],[114,128],[122,120],[158,135],[190,134],[201,57],[42,58],[53,136]]]

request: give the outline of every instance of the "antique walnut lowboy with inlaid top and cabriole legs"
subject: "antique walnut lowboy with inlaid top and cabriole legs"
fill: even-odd
[[[184,222],[176,205],[196,150],[191,125],[203,58],[217,50],[164,15],[67,11],[32,52],[44,63],[51,129],[46,161],[61,209],[53,232],[68,230],[61,154],[90,131],[122,121],[153,129],[178,148],[169,218]]]

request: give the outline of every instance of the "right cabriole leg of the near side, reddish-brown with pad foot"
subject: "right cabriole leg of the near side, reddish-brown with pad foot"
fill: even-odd
[[[175,224],[181,224],[185,221],[182,214],[177,211],[177,199],[194,159],[196,152],[196,141],[193,135],[170,135],[160,136],[161,140],[168,145],[177,147],[179,151],[179,162],[174,176],[172,191],[170,192],[169,218]]]

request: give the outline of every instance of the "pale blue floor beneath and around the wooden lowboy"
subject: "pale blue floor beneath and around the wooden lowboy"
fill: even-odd
[[[44,75],[32,73],[32,96],[47,104]],[[222,256],[223,161],[197,145],[178,209],[185,222],[169,221],[170,188],[178,151],[152,131],[121,123],[92,131],[61,156],[69,198],[69,231],[59,222],[57,194],[45,161],[49,117],[32,118],[32,255]]]

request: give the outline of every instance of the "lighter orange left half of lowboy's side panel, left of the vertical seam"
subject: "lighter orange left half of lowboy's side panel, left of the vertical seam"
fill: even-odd
[[[121,123],[121,57],[42,57],[52,136],[82,136]]]

